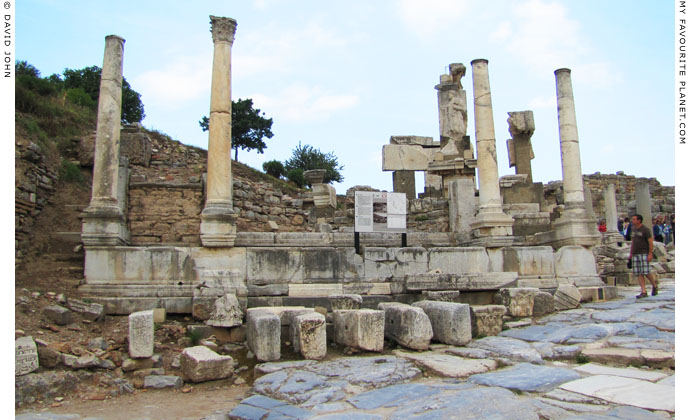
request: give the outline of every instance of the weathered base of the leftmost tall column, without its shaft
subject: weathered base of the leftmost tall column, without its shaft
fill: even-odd
[[[124,246],[129,231],[122,210],[117,205],[89,206],[81,214],[81,240],[86,247]]]

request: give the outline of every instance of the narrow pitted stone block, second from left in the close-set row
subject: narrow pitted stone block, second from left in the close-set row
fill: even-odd
[[[295,352],[305,359],[326,357],[326,317],[322,314],[312,312],[293,318],[290,337]]]

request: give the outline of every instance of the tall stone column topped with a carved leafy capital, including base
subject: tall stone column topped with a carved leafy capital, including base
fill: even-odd
[[[235,244],[237,227],[232,206],[232,100],[230,54],[235,40],[234,19],[210,16],[213,36],[211,112],[208,128],[206,203],[201,212],[201,243],[207,247]]]

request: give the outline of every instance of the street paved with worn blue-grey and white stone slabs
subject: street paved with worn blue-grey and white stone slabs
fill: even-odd
[[[204,419],[674,418],[674,282],[662,279],[658,296],[637,293],[621,287],[618,299],[466,347],[257,365],[253,395]]]

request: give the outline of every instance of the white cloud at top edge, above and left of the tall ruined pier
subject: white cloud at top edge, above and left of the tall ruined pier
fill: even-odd
[[[456,23],[468,10],[466,0],[400,0],[398,6],[403,23],[422,38]]]

